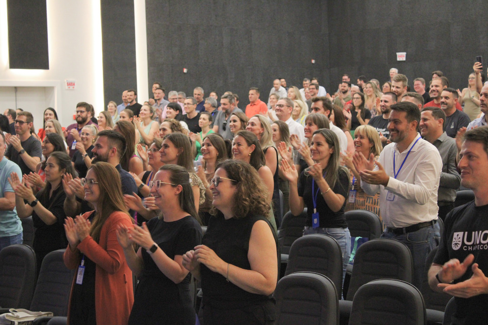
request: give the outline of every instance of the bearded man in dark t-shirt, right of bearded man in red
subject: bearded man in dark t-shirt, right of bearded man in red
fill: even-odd
[[[454,88],[444,88],[441,92],[441,109],[446,114],[445,130],[451,138],[455,138],[457,131],[471,122],[468,114],[456,110],[457,96]]]

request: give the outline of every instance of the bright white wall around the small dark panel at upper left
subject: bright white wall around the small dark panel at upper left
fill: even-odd
[[[21,70],[8,66],[7,1],[0,0],[0,87],[8,87],[0,91],[0,113],[15,108],[9,89],[22,87],[17,92],[18,107],[26,110],[27,106],[20,103],[29,103],[36,128],[42,127],[47,103],[56,109],[63,126],[73,123],[78,102],[94,105],[97,112],[104,108],[100,0],[46,3],[49,70]],[[65,89],[66,79],[76,81],[74,90]],[[41,91],[39,87],[47,88]],[[42,92],[44,101],[39,100]]]

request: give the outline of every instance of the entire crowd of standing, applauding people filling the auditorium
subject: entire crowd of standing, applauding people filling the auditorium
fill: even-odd
[[[440,239],[433,289],[488,307],[479,297],[488,293],[479,284],[488,282],[485,250],[453,254],[449,237],[468,231],[456,228],[456,216],[474,229],[488,203],[488,173],[479,170],[488,166],[481,69],[474,64],[462,90],[441,71],[428,86],[414,79],[414,91],[394,68],[383,84],[359,76],[354,85],[344,74],[331,92],[316,78],[301,89],[278,78],[264,101],[251,87],[242,108],[230,91],[220,99],[215,91],[205,98],[201,87],[166,96],[155,82],[148,101],[125,90],[123,103],[110,101],[98,118],[93,105],[78,103],[71,125],[47,108],[37,133],[31,113],[8,109],[0,119],[0,249],[22,243],[19,218],[31,215],[38,269],[47,253],[66,249],[66,266],[77,270],[71,324],[194,324],[191,275],[202,285],[202,323],[267,324],[275,319],[284,213],[306,209],[303,235],[337,240],[345,274],[345,212],[365,209],[381,218],[382,237],[410,248],[414,285]],[[462,186],[474,191],[475,206],[451,212]],[[443,234],[438,218],[448,225]],[[478,290],[466,293],[473,277]]]

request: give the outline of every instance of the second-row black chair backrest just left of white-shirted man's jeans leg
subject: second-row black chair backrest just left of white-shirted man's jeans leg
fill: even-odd
[[[411,283],[413,261],[410,249],[395,239],[379,238],[365,242],[356,251],[346,299],[357,289],[377,279],[397,279]]]

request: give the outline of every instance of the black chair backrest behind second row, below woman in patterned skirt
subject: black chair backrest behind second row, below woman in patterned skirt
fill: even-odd
[[[373,212],[367,210],[352,210],[345,213],[347,228],[351,237],[380,238],[382,231],[381,220]]]

